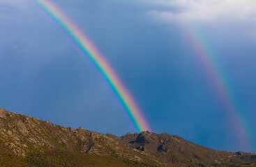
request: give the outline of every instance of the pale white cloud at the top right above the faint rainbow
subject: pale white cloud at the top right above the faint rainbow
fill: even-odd
[[[256,21],[255,0],[140,0],[165,10],[151,10],[162,21],[216,21],[219,19]],[[166,10],[170,8],[170,10]],[[173,11],[176,8],[177,11]]]

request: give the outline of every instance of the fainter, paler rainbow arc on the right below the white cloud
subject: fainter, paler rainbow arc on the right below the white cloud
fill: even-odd
[[[252,142],[250,141],[250,126],[248,125],[248,121],[246,121],[246,113],[237,104],[234,90],[232,90],[228,77],[216,59],[216,54],[208,44],[206,35],[195,24],[185,24],[183,27],[186,37],[189,38],[190,44],[197,53],[197,58],[204,65],[209,79],[216,89],[218,99],[222,103],[230,120],[229,123],[231,124],[232,130],[237,136],[237,143],[244,150],[250,151],[252,149]]]

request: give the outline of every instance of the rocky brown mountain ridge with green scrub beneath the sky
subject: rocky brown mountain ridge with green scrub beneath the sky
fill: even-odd
[[[0,166],[256,166],[256,154],[167,133],[100,134],[0,108]]]

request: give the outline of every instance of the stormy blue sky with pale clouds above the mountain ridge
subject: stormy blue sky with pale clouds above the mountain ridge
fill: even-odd
[[[256,152],[256,1],[52,1],[103,53],[153,132]],[[137,132],[95,65],[33,0],[0,0],[0,23],[1,108],[74,129]]]

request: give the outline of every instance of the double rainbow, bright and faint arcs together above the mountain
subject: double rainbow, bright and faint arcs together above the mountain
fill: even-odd
[[[146,119],[142,115],[139,107],[133,100],[133,97],[130,95],[128,90],[123,86],[119,77],[112,69],[105,57],[100,54],[100,51],[96,49],[93,43],[89,38],[84,35],[84,33],[70,20],[66,15],[64,15],[61,10],[48,0],[33,0],[42,8],[47,15],[49,15],[54,22],[56,22],[63,31],[65,31],[68,36],[73,40],[75,45],[80,49],[82,55],[88,57],[98,70],[103,74],[107,82],[110,84],[116,95],[119,97],[119,100],[126,109],[128,116],[133,121],[133,124],[139,132],[149,130],[151,131],[149,124],[146,122]],[[206,71],[211,77],[213,86],[218,90],[218,95],[220,101],[225,106],[225,111],[229,116],[234,131],[238,136],[238,141],[243,145],[243,148],[250,149],[250,138],[248,136],[248,125],[246,124],[246,119],[243,116],[243,112],[236,106],[234,100],[234,95],[232,95],[232,90],[227,84],[227,79],[223,75],[220,65],[214,60],[214,54],[212,49],[206,45],[206,40],[204,35],[198,31],[197,28],[186,25],[186,32],[190,42],[193,45],[199,60],[204,65]]]

